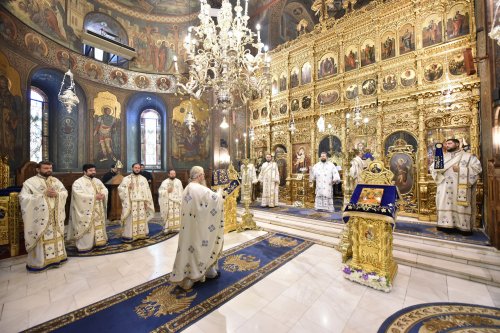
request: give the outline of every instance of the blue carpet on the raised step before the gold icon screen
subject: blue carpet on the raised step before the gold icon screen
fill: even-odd
[[[322,212],[316,211],[312,208],[298,208],[292,206],[279,206],[279,207],[261,207],[258,203],[254,203],[251,209],[256,209],[260,211],[272,212],[277,214],[298,216],[310,219],[317,219],[321,221],[333,222],[333,223],[344,223],[342,221],[342,210],[343,207],[338,201],[335,202],[335,212]],[[458,232],[446,233],[436,229],[435,224],[421,223],[421,222],[409,222],[405,221],[404,217],[398,217],[396,221],[396,233],[444,239],[454,242],[469,243],[475,245],[491,246],[488,236],[481,229],[476,229],[472,232],[471,236],[464,236]]]

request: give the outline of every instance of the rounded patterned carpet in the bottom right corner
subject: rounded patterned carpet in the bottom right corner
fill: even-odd
[[[500,332],[500,309],[464,303],[424,303],[399,310],[378,333]]]

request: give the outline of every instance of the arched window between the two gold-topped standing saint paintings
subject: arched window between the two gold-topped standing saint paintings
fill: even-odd
[[[141,163],[146,169],[161,169],[161,118],[153,109],[141,113]]]

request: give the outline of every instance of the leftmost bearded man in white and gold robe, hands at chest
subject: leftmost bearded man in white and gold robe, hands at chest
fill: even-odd
[[[64,206],[68,191],[59,179],[52,177],[52,162],[41,161],[36,171],[36,176],[23,183],[19,194],[28,271],[58,267],[67,260]]]

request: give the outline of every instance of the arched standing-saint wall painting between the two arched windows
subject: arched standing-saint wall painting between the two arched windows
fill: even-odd
[[[110,92],[99,92],[94,98],[94,162],[98,169],[109,169],[122,160],[121,104]]]

